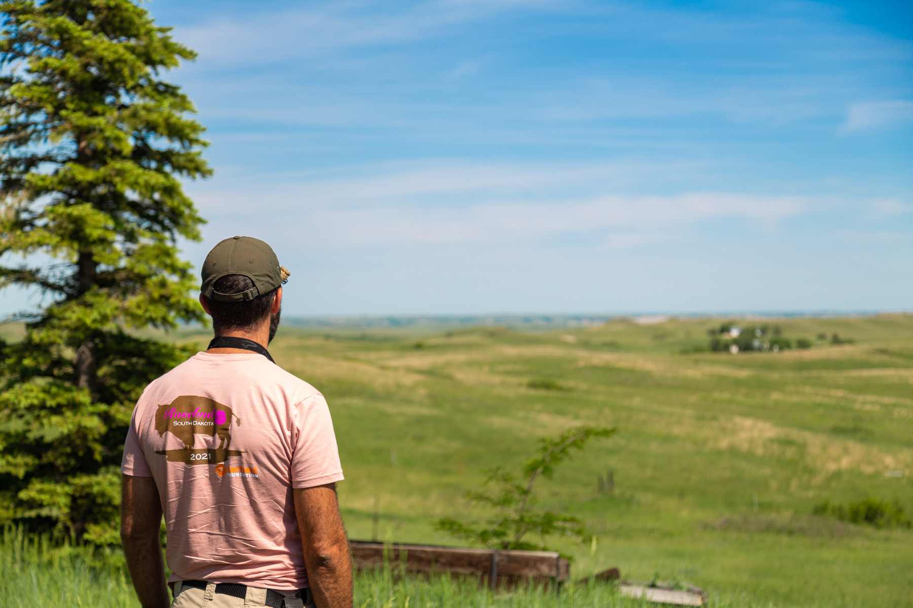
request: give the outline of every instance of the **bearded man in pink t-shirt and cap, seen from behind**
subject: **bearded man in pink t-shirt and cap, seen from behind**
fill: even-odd
[[[330,410],[273,363],[289,272],[265,242],[219,242],[200,304],[215,339],[146,387],[124,445],[121,538],[144,607],[352,606]]]

